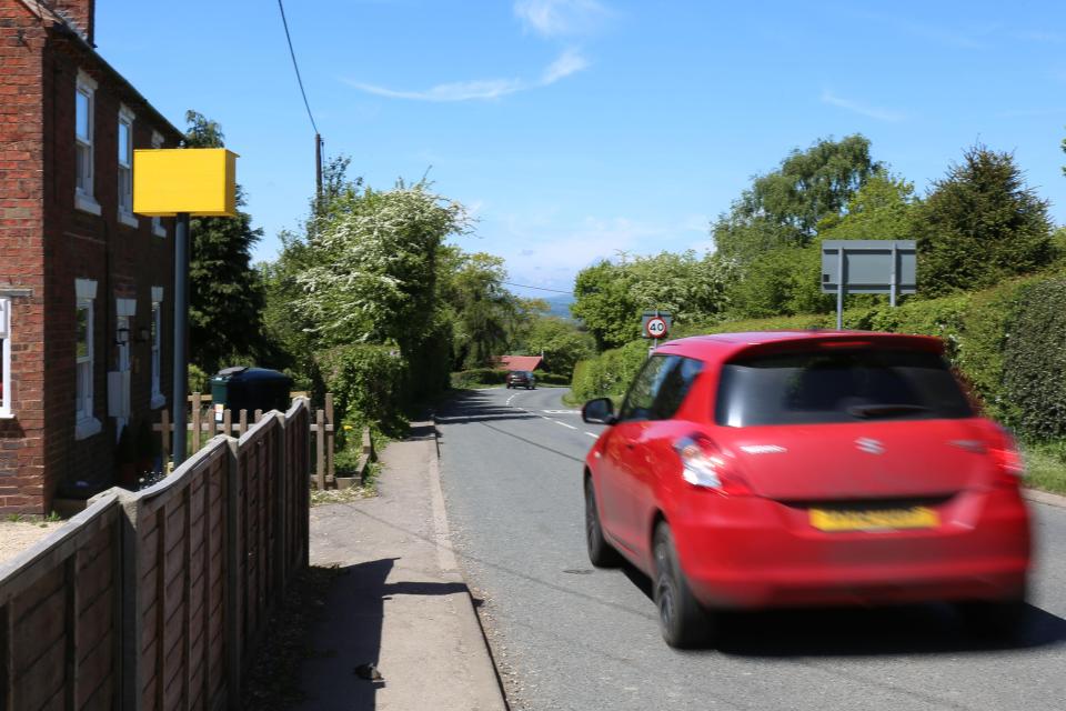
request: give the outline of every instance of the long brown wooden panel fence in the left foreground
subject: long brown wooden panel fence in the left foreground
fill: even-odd
[[[239,708],[268,613],[308,564],[310,407],[111,489],[0,564],[0,709]]]

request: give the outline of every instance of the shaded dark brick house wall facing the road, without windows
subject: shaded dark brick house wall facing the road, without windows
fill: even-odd
[[[52,109],[46,123],[46,159],[56,169],[49,174],[46,198],[46,264],[51,298],[46,314],[46,362],[49,389],[46,394],[49,444],[48,481],[51,491],[61,482],[84,481],[91,489],[114,483],[114,450],[118,439],[115,420],[108,417],[107,373],[118,367],[119,349],[114,344],[115,299],[135,299],[137,313],[131,319],[132,415],[128,427],[154,418],[151,400],[151,343],[141,341],[142,329],[150,328],[151,288],[164,288],[162,385],[170,392],[171,356],[167,338],[172,328],[168,307],[173,299],[173,226],[164,220],[167,238],[152,233],[151,219],[139,218],[138,227],[122,223],[118,213],[118,120],[123,103],[121,90],[104,72],[93,70],[91,62],[79,56],[78,48],[67,43],[68,51],[50,52],[47,62],[51,83],[48,101]],[[79,61],[82,60],[82,61]],[[74,92],[78,70],[87,71],[98,83],[94,93],[94,184],[93,197],[101,214],[93,216],[74,208]],[[127,98],[129,101],[129,99]],[[153,127],[143,111],[133,123],[135,148],[150,148]],[[162,132],[162,131],[160,131]],[[170,142],[173,146],[173,141]],[[74,313],[76,279],[97,281],[94,302],[94,414],[103,429],[81,441],[74,432]],[[132,430],[131,430],[132,432]],[[54,438],[51,435],[54,434]]]

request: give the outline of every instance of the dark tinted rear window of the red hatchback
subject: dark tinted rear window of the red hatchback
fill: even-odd
[[[944,360],[904,349],[742,357],[722,367],[715,405],[727,427],[968,417]]]

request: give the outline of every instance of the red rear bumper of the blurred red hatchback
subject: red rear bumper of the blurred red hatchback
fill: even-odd
[[[1025,594],[1028,514],[1016,492],[963,492],[939,525],[824,532],[808,512],[758,499],[705,499],[671,520],[693,593],[720,608],[1017,600]]]

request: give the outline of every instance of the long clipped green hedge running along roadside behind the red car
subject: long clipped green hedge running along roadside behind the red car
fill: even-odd
[[[672,336],[835,326],[836,314],[802,314],[687,326]],[[941,338],[988,415],[1029,440],[1066,437],[1066,278],[1055,270],[979,292],[848,309],[844,328]],[[637,340],[577,363],[572,399],[624,392],[646,357],[647,341]]]

